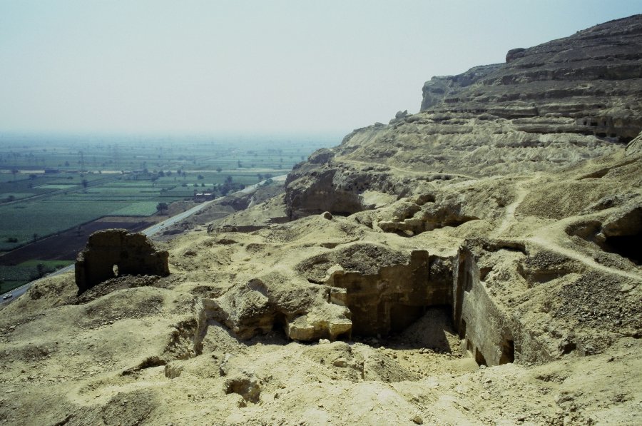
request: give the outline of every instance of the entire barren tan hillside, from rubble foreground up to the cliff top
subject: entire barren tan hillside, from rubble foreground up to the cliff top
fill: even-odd
[[[170,275],[44,280],[0,315],[0,419],[634,424],[640,70],[638,15],[432,78]]]

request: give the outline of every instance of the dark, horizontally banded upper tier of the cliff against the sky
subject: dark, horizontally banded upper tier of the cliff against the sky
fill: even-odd
[[[642,15],[610,21],[424,84],[422,111],[569,117],[577,133],[630,141],[642,128]],[[546,133],[546,126],[537,131]],[[550,133],[558,133],[555,128]]]

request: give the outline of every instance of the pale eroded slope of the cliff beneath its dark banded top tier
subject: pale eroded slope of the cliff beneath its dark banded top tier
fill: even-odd
[[[576,133],[574,123],[424,112],[392,126],[362,128],[332,148],[331,161],[301,163],[287,176],[287,213],[350,215],[435,191],[434,183],[552,171],[621,148],[608,138]]]

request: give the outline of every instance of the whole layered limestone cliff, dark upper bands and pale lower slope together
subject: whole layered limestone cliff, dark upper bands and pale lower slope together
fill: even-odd
[[[642,15],[513,49],[506,60],[432,78],[421,112],[357,129],[297,166],[286,182],[290,218],[352,214],[438,193],[440,183],[555,171],[619,151],[642,131]]]

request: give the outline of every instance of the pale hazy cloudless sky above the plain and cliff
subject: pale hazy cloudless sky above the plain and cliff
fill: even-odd
[[[642,0],[0,0],[0,131],[343,134]]]

